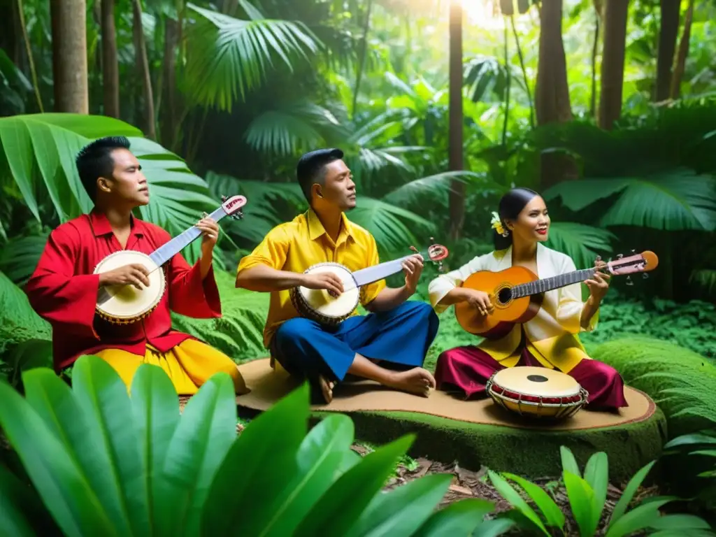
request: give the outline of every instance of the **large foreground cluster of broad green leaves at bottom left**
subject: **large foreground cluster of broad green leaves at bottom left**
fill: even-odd
[[[24,470],[0,465],[4,535],[497,535],[512,525],[483,521],[493,505],[480,500],[434,513],[450,475],[380,493],[412,436],[361,458],[349,417],[309,432],[307,384],[238,438],[223,373],[182,414],[167,374],[148,364],[130,395],[93,356],[77,361],[72,388],[45,368],[26,372],[24,386],[21,397],[0,384],[0,427]]]

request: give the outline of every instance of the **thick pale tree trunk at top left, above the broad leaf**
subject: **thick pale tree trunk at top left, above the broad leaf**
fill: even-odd
[[[87,95],[87,4],[50,0],[54,111],[89,113]]]

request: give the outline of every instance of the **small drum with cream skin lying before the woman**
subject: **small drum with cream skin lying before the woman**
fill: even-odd
[[[532,366],[508,367],[493,373],[487,392],[495,403],[511,412],[548,420],[575,415],[589,397],[568,374]]]

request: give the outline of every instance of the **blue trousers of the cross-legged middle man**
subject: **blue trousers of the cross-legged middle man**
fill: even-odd
[[[297,377],[341,381],[356,353],[387,369],[421,367],[439,321],[430,304],[407,301],[390,311],[352,316],[335,327],[296,317],[279,326],[270,350]]]

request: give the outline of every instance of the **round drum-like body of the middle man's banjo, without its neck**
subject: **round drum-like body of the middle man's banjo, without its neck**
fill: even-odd
[[[360,288],[352,272],[340,263],[319,263],[311,266],[304,274],[331,272],[343,282],[341,296],[331,296],[325,289],[308,289],[304,286],[291,289],[291,302],[299,314],[326,326],[336,326],[348,319],[358,307]]]

